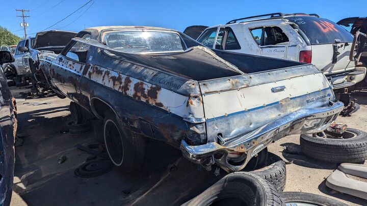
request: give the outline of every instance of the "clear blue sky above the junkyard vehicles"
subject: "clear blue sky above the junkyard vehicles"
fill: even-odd
[[[65,18],[89,0],[2,0],[0,26],[22,37],[15,9],[29,9],[27,33],[37,33]],[[92,6],[91,3],[94,2]],[[367,1],[117,1],[92,0],[51,29],[78,32],[84,26],[144,25],[183,31],[190,25],[226,23],[235,18],[265,13],[317,13],[338,21],[350,16],[367,16]],[[276,2],[276,3],[274,3]],[[90,7],[90,8],[89,8]],[[89,8],[89,9],[88,9]],[[88,10],[87,10],[88,9]],[[18,14],[20,14],[18,12]],[[20,30],[20,31],[18,31]],[[34,36],[31,35],[31,36]]]

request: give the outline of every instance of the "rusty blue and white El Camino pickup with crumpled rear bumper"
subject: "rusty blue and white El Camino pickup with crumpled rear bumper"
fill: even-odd
[[[239,171],[279,138],[324,131],[344,107],[311,64],[212,50],[166,28],[86,28],[39,61],[51,89],[103,121],[124,171],[142,164],[146,138]]]

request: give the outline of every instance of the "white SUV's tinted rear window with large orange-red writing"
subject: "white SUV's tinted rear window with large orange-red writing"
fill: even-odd
[[[335,43],[335,39],[339,39],[341,42],[353,41],[351,33],[327,19],[316,16],[292,16],[285,18],[296,23],[313,45]]]

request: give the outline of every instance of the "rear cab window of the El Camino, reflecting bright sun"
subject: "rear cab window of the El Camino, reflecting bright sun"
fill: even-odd
[[[180,52],[180,37],[170,32],[110,32],[103,43],[126,53]]]

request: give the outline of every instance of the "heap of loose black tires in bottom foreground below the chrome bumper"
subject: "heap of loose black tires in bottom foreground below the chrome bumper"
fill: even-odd
[[[267,151],[263,152],[264,154],[267,155]],[[227,174],[182,205],[347,205],[320,195],[283,192],[286,182],[285,162],[280,157],[269,153],[266,163],[268,166],[251,172],[240,171]]]

